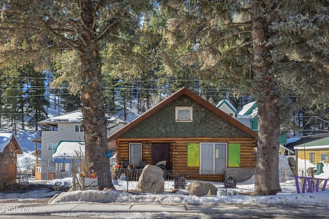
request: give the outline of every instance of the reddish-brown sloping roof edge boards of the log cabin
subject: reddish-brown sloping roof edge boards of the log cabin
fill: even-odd
[[[217,107],[215,107],[214,105],[210,104],[204,98],[202,98],[199,95],[193,93],[189,89],[183,87],[183,88],[179,89],[178,91],[176,91],[175,93],[173,93],[172,95],[170,95],[168,98],[166,98],[163,101],[161,101],[159,104],[157,104],[152,109],[148,110],[147,112],[144,112],[142,115],[140,115],[139,117],[137,117],[134,121],[132,121],[130,124],[124,126],[123,128],[121,128],[117,132],[113,133],[111,136],[109,136],[107,138],[107,142],[116,139],[117,137],[119,137],[120,135],[122,135],[123,133],[125,133],[126,131],[132,129],[133,127],[135,127],[140,122],[146,120],[151,115],[157,113],[162,108],[166,107],[168,104],[170,104],[171,102],[173,102],[175,99],[177,99],[181,95],[187,95],[188,97],[192,98],[195,102],[199,103],[200,105],[203,105],[205,108],[207,108],[211,112],[215,113],[216,115],[222,117],[224,120],[226,120],[227,122],[231,123],[235,127],[241,129],[242,131],[244,131],[245,133],[249,134],[250,136],[252,136],[254,138],[258,138],[258,134],[256,132],[252,131],[247,126],[245,126],[242,123],[240,123],[239,121],[235,120],[235,118],[233,118],[232,116],[226,114],[222,110],[220,110]]]

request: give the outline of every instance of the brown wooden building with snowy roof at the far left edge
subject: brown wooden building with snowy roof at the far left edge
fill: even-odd
[[[16,183],[17,154],[22,154],[20,145],[12,133],[0,133],[0,191]]]

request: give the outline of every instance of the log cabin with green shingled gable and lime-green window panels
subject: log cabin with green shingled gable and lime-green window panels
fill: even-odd
[[[113,135],[117,162],[156,165],[236,181],[254,174],[257,133],[187,88],[181,88]],[[243,173],[243,174],[241,174]],[[246,176],[242,178],[241,176]],[[191,178],[191,176],[190,176]]]

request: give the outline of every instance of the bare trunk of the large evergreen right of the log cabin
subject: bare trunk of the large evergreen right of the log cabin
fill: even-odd
[[[255,9],[257,10],[257,9]],[[266,46],[266,24],[262,17],[253,19],[254,82],[258,106],[258,147],[255,172],[257,195],[276,194],[279,183],[279,115],[275,76],[271,73],[270,50]]]

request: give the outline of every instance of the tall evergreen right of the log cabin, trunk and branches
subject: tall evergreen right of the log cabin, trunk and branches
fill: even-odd
[[[167,22],[166,43],[173,45],[171,51],[191,43],[194,46],[181,62],[218,84],[250,90],[257,100],[255,194],[280,190],[279,133],[289,114],[287,93],[293,87],[312,87],[310,91],[315,93],[328,88],[328,3],[167,3],[163,11],[174,13]]]

